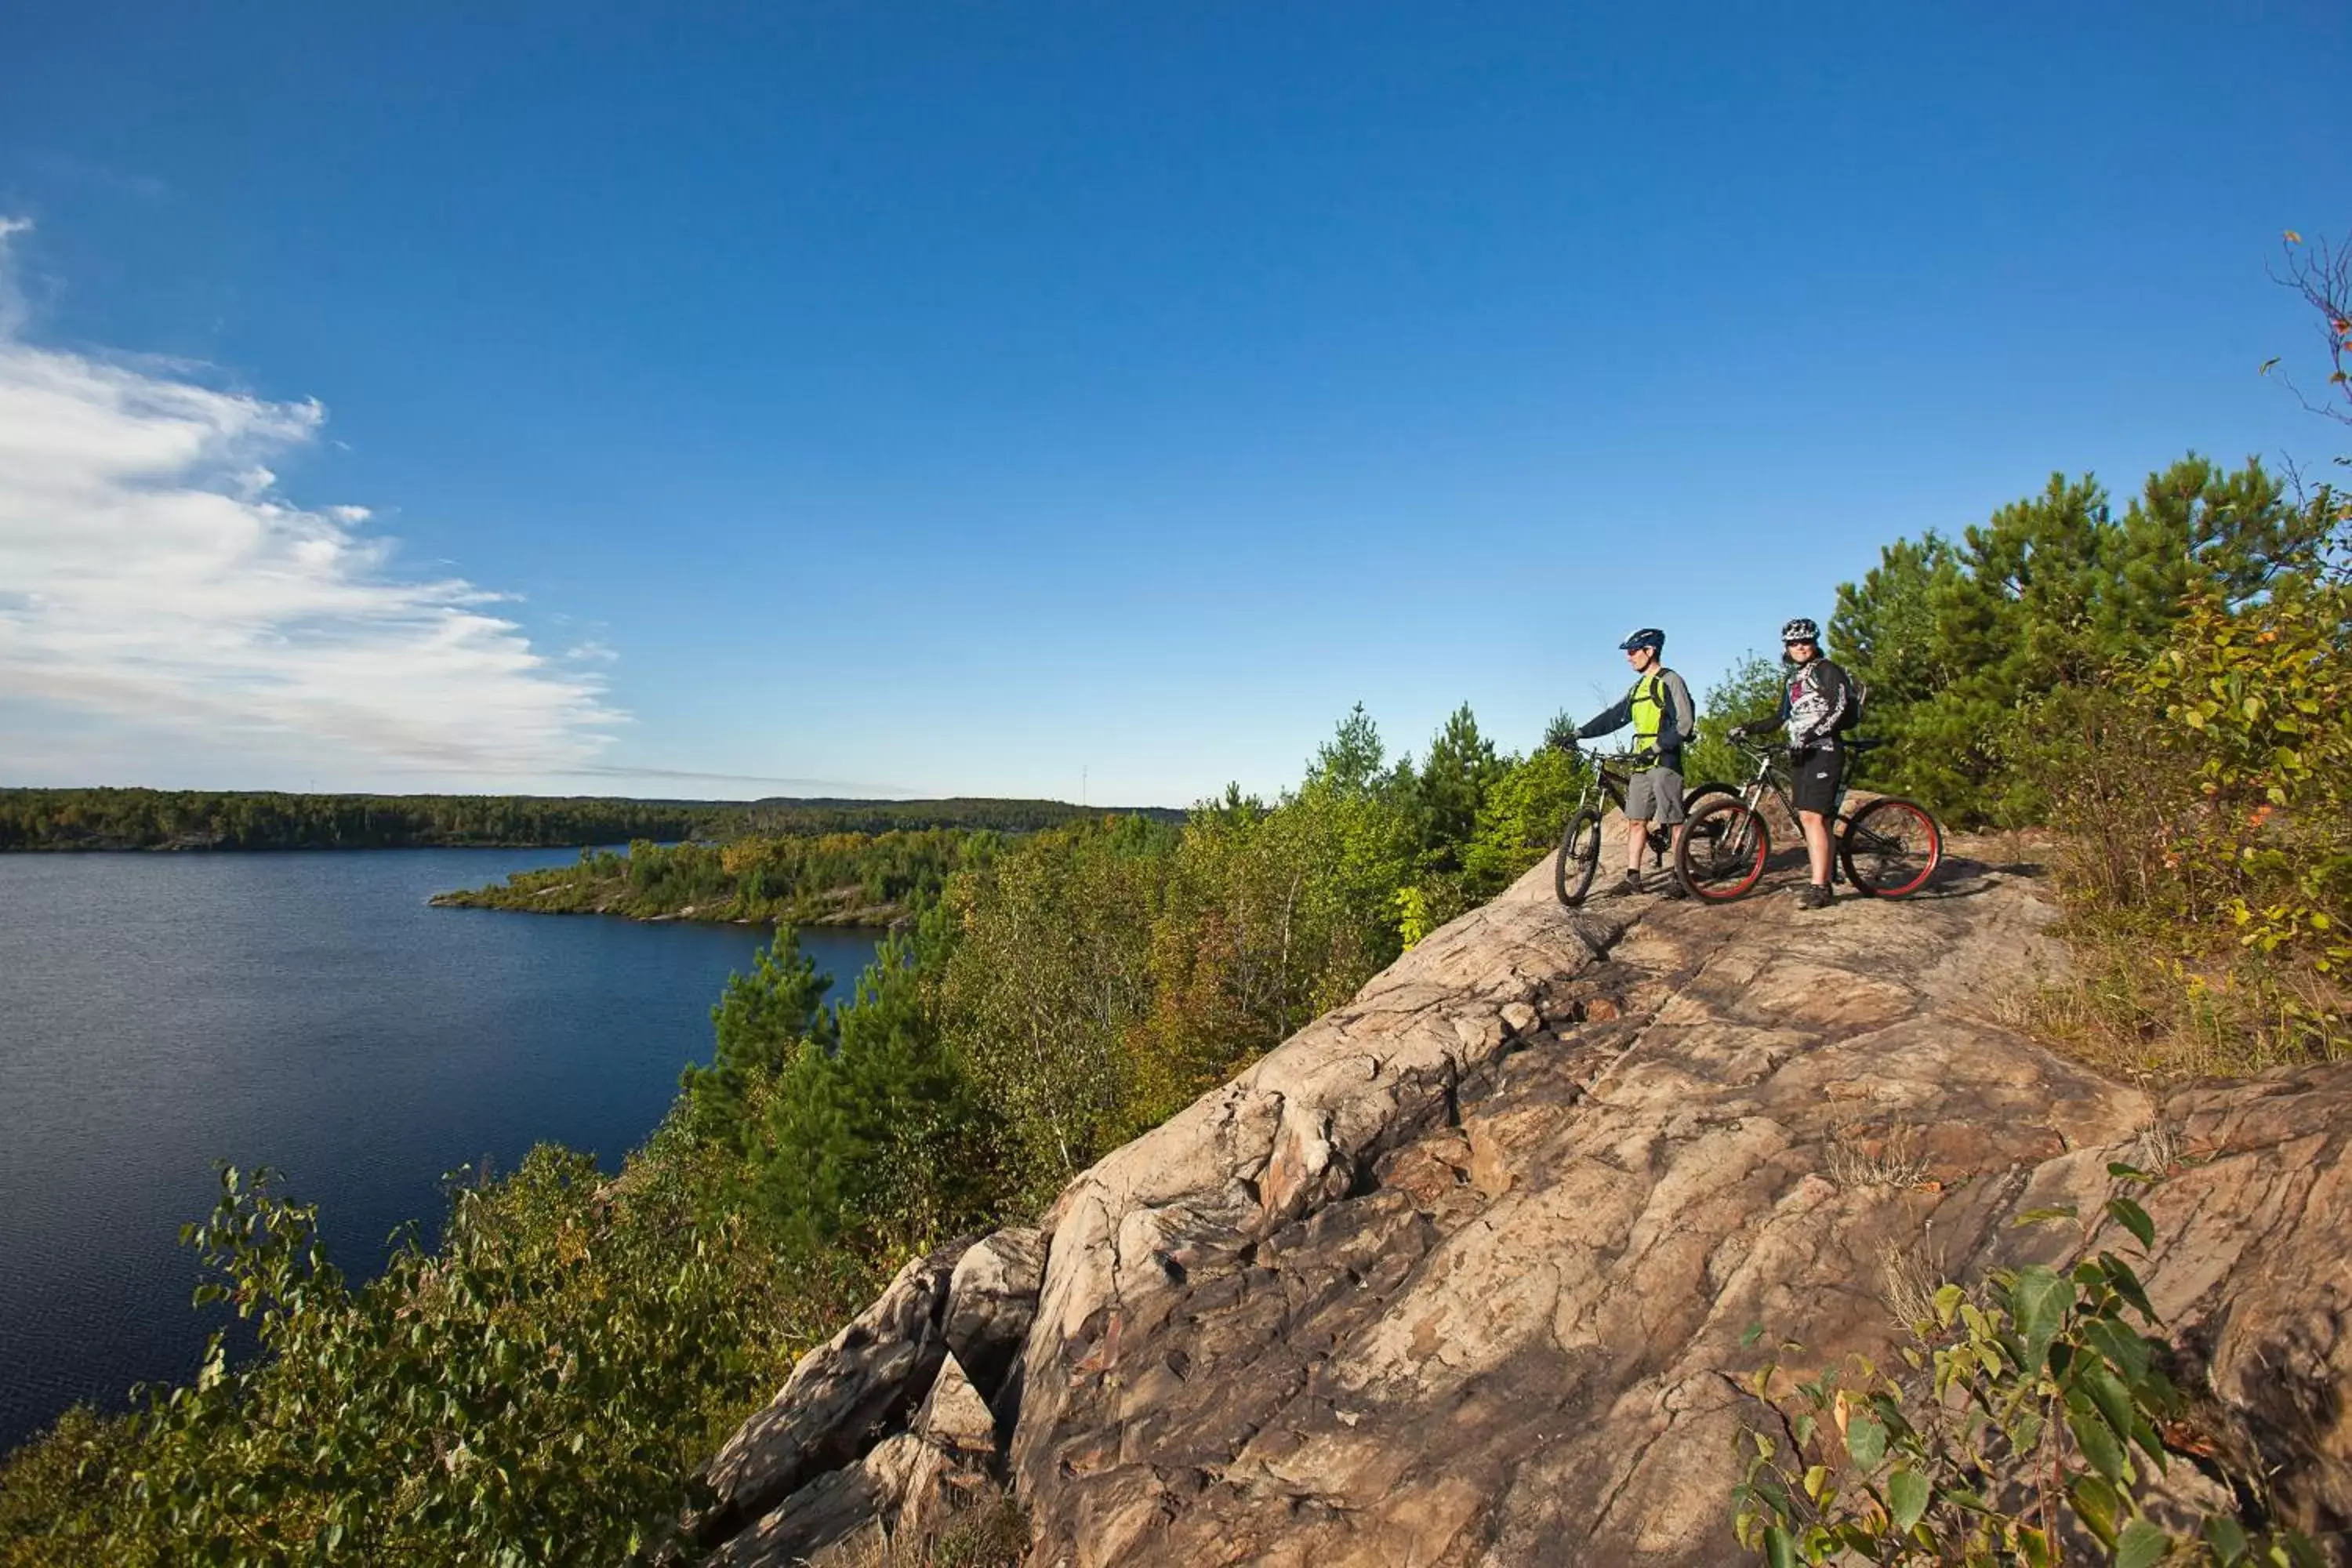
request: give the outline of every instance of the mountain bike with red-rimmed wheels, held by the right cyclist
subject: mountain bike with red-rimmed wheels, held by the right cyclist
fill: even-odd
[[[1745,898],[1764,879],[1764,863],[1771,860],[1771,827],[1762,811],[1766,795],[1797,820],[1788,748],[1769,741],[1733,741],[1733,745],[1755,757],[1755,778],[1726,799],[1700,804],[1675,851],[1675,875],[1682,877],[1682,886],[1708,903]],[[1842,743],[1849,757],[1875,745],[1877,741]],[[1926,806],[1898,795],[1879,795],[1851,816],[1839,809],[1830,832],[1837,846],[1832,879],[1844,870],[1844,879],[1872,898],[1910,898],[1943,863],[1943,827]]]

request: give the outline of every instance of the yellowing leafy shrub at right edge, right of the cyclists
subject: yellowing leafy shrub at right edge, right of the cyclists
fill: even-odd
[[[2166,644],[2013,726],[2079,961],[2027,1011],[2154,1077],[2340,1058],[2352,966],[2352,590],[2190,599]]]

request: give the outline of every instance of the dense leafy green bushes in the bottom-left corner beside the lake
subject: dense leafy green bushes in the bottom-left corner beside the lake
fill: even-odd
[[[696,1222],[691,1171],[534,1150],[358,1291],[268,1173],[223,1168],[186,1237],[263,1354],[214,1335],[193,1385],[19,1455],[45,1563],[623,1561],[788,1359],[776,1281]]]

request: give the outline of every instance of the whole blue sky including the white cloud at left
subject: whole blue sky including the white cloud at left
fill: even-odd
[[[12,7],[0,783],[1294,780],[2187,449],[2352,7]],[[2333,442],[2333,444],[2331,444]]]

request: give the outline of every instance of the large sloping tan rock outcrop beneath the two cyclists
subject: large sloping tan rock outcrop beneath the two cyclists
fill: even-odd
[[[2157,1098],[2006,1030],[1999,997],[2065,961],[2032,867],[1820,914],[1566,912],[1548,877],[1037,1232],[908,1265],[713,1462],[708,1561],[920,1526],[993,1476],[1030,1561],[1073,1568],[1731,1561],[1748,1326],[1884,1359],[1905,1281],[2114,1246],[2011,1225],[2098,1213],[2110,1159],[2171,1168],[2143,1276],[2223,1441],[2347,1528],[2352,1074]]]

